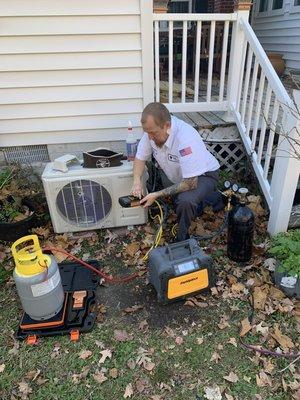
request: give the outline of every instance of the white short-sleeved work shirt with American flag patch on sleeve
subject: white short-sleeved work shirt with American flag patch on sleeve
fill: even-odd
[[[220,168],[219,162],[207,150],[196,129],[176,117],[171,117],[170,134],[162,147],[156,146],[148,134],[144,133],[138,145],[136,158],[147,161],[152,153],[173,183]]]

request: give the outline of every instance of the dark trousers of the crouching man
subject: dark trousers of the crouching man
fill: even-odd
[[[172,185],[164,173],[161,174],[164,187]],[[197,216],[197,208],[210,193],[212,193],[218,183],[219,170],[206,172],[198,176],[198,186],[194,190],[178,193],[173,196],[175,211],[178,218],[177,240],[182,241],[189,237],[188,231],[192,220]]]

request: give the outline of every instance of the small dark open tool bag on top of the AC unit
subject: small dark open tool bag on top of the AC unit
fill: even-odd
[[[109,168],[120,166],[123,153],[116,153],[108,149],[97,149],[83,153],[84,168]]]

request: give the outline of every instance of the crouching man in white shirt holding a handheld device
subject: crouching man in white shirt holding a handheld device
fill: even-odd
[[[148,104],[141,123],[145,133],[134,160],[132,194],[141,198],[141,177],[146,161],[153,154],[163,172],[164,189],[149,193],[140,203],[149,207],[159,197],[172,196],[178,218],[177,240],[185,240],[198,204],[216,189],[220,165],[199,133],[184,121],[171,117],[163,104]]]

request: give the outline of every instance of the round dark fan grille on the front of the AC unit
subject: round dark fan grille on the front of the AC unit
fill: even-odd
[[[78,179],[59,191],[56,205],[67,222],[88,227],[99,223],[109,214],[112,201],[108,191],[99,183]]]

